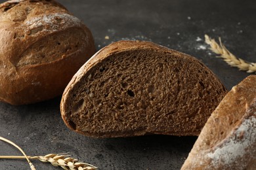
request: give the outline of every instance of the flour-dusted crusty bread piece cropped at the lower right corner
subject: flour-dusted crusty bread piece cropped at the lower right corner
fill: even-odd
[[[256,169],[256,75],[211,114],[181,169]]]

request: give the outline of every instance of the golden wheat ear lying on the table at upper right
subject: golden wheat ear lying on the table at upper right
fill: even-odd
[[[234,54],[232,54],[221,42],[221,38],[219,37],[219,44],[211,39],[208,35],[205,35],[205,42],[211,46],[209,48],[215,54],[219,54],[218,58],[223,58],[228,65],[231,67],[238,67],[238,69],[242,71],[247,71],[247,73],[256,73],[256,63],[251,63],[245,61],[241,58],[236,58]]]

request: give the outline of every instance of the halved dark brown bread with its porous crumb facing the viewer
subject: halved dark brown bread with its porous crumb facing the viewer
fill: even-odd
[[[79,69],[60,109],[70,129],[90,137],[199,135],[225,94],[198,59],[152,42],[119,41]]]

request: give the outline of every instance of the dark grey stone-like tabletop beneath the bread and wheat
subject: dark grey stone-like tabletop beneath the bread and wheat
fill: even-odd
[[[1,3],[3,1],[0,1]],[[256,2],[242,0],[59,0],[91,29],[97,50],[111,42],[152,41],[200,59],[230,90],[249,75],[215,58],[203,42],[222,38],[240,58],[256,62]],[[109,39],[105,39],[108,36]],[[99,169],[180,169],[196,137],[148,135],[92,139],[70,131],[60,116],[60,97],[33,105],[0,103],[0,135],[28,155],[69,152]],[[0,155],[20,155],[0,142]],[[37,169],[60,169],[33,161]],[[29,169],[22,160],[0,160],[0,169]]]

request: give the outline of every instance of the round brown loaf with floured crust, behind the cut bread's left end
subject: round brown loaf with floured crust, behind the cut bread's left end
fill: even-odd
[[[0,101],[22,105],[61,95],[94,53],[91,31],[56,1],[0,5]]]

